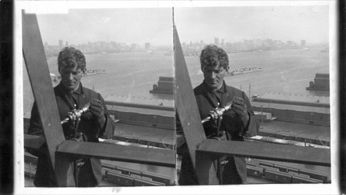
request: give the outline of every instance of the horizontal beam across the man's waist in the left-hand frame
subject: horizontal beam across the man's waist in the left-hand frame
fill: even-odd
[[[57,149],[57,153],[128,163],[175,167],[175,151],[172,149],[153,149],[66,140]]]

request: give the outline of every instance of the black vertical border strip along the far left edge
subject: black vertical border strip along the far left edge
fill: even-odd
[[[0,1],[0,194],[14,190],[13,8],[13,1]]]

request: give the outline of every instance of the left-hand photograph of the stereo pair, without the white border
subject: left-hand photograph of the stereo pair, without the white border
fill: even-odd
[[[25,186],[174,185],[172,8],[22,18]]]

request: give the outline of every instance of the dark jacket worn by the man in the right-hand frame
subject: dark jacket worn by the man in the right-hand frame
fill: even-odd
[[[242,124],[239,115],[235,115],[235,112],[231,110],[224,113],[220,131],[226,131],[226,140],[244,141],[244,136],[256,136],[257,131],[260,127],[260,123],[253,113],[253,109],[246,94],[243,91],[235,89],[232,86],[227,86],[225,82],[223,83],[223,86],[219,91],[221,91],[220,105],[218,105],[217,98],[210,92],[210,89],[208,89],[204,82],[194,89],[194,95],[196,97],[201,119],[206,118],[209,111],[211,111],[212,109],[225,106],[228,102],[233,100],[235,96],[242,97],[246,102],[249,113],[248,124],[246,125],[246,127],[244,127],[244,124]],[[212,122],[206,122],[205,124],[203,124],[203,128],[207,138],[212,136],[216,131],[215,128],[212,127]],[[228,182],[226,181],[224,183],[244,183],[246,181],[245,158],[231,156],[227,160],[229,163],[227,163],[224,167],[223,178],[224,181],[228,180]],[[238,177],[239,179],[235,177]],[[196,176],[194,176],[192,163],[190,161],[190,156],[188,155],[183,156],[179,185],[197,185],[197,178]]]

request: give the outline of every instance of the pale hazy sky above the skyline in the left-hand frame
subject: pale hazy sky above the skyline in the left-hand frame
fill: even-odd
[[[87,41],[146,42],[172,45],[172,8],[118,8],[69,10],[67,15],[37,15],[44,42],[58,45]]]

